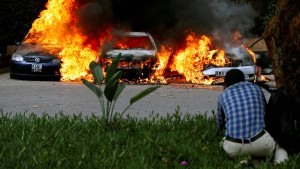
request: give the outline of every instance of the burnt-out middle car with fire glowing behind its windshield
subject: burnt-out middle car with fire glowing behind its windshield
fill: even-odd
[[[100,56],[100,64],[107,68],[112,60],[121,55],[118,69],[123,78],[148,78],[153,73],[157,60],[157,47],[152,36],[147,32],[123,32],[116,34],[108,42],[108,49]]]

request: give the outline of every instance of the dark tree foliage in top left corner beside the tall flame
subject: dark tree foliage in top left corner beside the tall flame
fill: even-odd
[[[45,9],[48,0],[1,0],[0,2],[0,53],[7,45],[22,41],[31,24]]]

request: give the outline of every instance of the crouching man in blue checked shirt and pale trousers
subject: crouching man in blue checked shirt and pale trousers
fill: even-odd
[[[265,106],[261,88],[245,81],[242,71],[232,69],[226,73],[224,92],[218,98],[216,123],[219,129],[225,129],[223,149],[230,157],[261,158],[275,152],[276,163],[288,158],[265,130]]]

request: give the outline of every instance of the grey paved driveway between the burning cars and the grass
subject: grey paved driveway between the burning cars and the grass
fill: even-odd
[[[149,85],[127,85],[117,101],[115,110],[122,111],[129,99]],[[192,84],[162,85],[155,92],[136,102],[126,112],[137,117],[158,113],[174,113],[179,106],[182,113],[207,113],[216,110],[221,86]],[[96,96],[82,83],[13,80],[9,73],[0,74],[0,108],[4,113],[48,113],[92,115],[99,114]]]

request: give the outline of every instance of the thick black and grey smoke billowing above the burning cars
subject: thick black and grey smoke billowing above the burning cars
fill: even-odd
[[[79,26],[88,34],[113,25],[150,32],[161,43],[178,43],[192,30],[224,45],[235,31],[249,33],[255,12],[250,4],[229,0],[81,0],[78,16]]]

